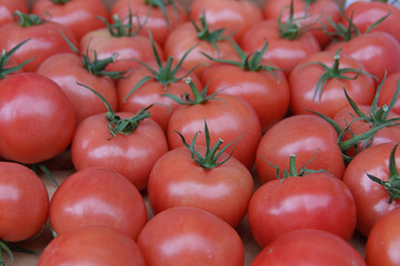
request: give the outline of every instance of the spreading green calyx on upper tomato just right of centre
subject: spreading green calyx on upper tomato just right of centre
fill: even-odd
[[[264,55],[267,48],[268,48],[268,41],[266,42],[266,44],[262,47],[262,49],[260,51],[256,51],[250,54],[246,54],[243,52],[243,50],[241,50],[241,48],[238,44],[236,44],[233,41],[231,41],[231,44],[234,48],[234,50],[238,52],[238,54],[240,57],[240,61],[213,59],[206,53],[202,53],[202,54],[211,61],[232,64],[232,65],[241,68],[242,70],[246,70],[246,71],[257,72],[257,71],[261,71],[261,70],[267,70],[279,81],[279,78],[274,71],[284,71],[284,70],[276,68],[276,66],[271,66],[271,65],[262,65],[261,64],[262,57]]]

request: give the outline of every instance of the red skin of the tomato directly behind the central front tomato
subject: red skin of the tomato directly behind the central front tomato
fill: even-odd
[[[261,126],[256,111],[244,100],[229,94],[218,94],[217,99],[202,104],[181,105],[168,125],[168,143],[170,150],[182,146],[181,133],[189,142],[198,131],[203,131],[204,120],[210,131],[210,143],[213,146],[219,139],[224,143],[240,142],[234,147],[233,156],[246,167],[251,168],[256,158],[257,145],[261,139]],[[174,132],[177,131],[177,132]],[[206,145],[204,139],[196,142]],[[234,145],[227,152],[230,153]]]

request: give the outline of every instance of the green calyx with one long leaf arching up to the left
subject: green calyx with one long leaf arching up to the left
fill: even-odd
[[[138,113],[136,113],[130,119],[121,119],[119,115],[117,115],[111,105],[107,102],[107,100],[97,91],[94,91],[93,89],[78,83],[81,86],[84,86],[87,89],[89,89],[90,91],[92,91],[96,95],[98,95],[101,101],[106,104],[108,112],[106,113],[106,119],[108,120],[108,130],[110,131],[111,137],[109,140],[111,140],[113,136],[116,136],[117,134],[122,134],[122,135],[130,135],[132,134],[139,126],[139,123],[141,121],[143,121],[144,119],[150,117],[150,112],[148,112],[148,110],[153,105],[149,105],[144,109],[141,109],[138,111]]]

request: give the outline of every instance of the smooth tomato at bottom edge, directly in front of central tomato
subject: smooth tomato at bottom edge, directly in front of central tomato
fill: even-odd
[[[198,208],[173,207],[157,214],[140,232],[138,244],[148,266],[243,265],[238,233]]]

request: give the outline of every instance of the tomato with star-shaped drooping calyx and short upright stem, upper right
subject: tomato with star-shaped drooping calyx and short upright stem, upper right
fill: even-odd
[[[293,114],[311,110],[333,117],[350,105],[343,88],[357,104],[371,104],[376,93],[373,79],[360,62],[339,52],[311,54],[296,65],[288,80]]]

